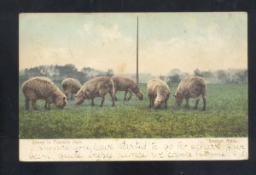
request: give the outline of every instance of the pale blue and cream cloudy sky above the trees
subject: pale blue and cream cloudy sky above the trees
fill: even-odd
[[[20,14],[20,70],[76,65],[166,75],[247,68],[247,13]]]

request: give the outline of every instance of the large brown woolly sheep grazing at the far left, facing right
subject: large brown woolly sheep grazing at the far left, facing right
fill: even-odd
[[[33,77],[22,84],[22,92],[25,95],[26,110],[29,110],[29,102],[32,102],[33,110],[38,110],[37,99],[44,99],[45,109],[50,109],[50,104],[54,103],[56,107],[63,109],[67,104],[67,98],[64,93],[46,77]]]

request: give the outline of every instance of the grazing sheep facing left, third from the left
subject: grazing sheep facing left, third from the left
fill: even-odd
[[[96,78],[90,79],[87,82],[84,82],[82,88],[79,92],[75,94],[76,104],[82,104],[84,99],[91,99],[91,105],[94,105],[94,98],[101,97],[101,107],[105,100],[105,95],[109,93],[112,98],[114,106],[114,85],[112,78],[108,76],[98,76]]]

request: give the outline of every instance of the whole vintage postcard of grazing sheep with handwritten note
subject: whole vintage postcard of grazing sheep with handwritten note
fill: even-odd
[[[19,15],[20,161],[248,159],[247,13]]]

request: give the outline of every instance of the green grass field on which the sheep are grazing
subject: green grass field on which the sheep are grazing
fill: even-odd
[[[61,82],[56,82],[60,87]],[[44,110],[44,101],[38,100],[39,110],[25,110],[24,95],[19,88],[20,138],[206,138],[247,137],[248,100],[245,84],[208,84],[207,110],[193,110],[195,100],[190,99],[190,109],[177,108],[170,96],[166,110],[148,108],[146,84],[140,84],[143,101],[134,95],[123,101],[119,92],[115,107],[109,95],[103,107],[100,98],[95,106],[90,101],[76,105],[69,100],[64,110]],[[174,94],[177,87],[170,87]],[[61,88],[62,90],[62,88]],[[193,106],[193,107],[192,107]]]

